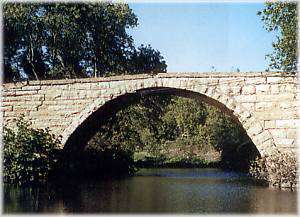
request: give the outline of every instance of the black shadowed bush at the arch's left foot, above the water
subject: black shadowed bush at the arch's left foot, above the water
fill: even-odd
[[[136,167],[133,154],[128,150],[115,147],[101,151],[87,149],[84,152],[72,153],[71,156],[64,156],[51,180],[64,183],[73,179],[128,176],[134,172]]]

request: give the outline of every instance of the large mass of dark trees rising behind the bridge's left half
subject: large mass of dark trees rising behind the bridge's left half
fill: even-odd
[[[122,3],[6,3],[4,80],[165,72],[159,51],[136,49],[138,25]]]

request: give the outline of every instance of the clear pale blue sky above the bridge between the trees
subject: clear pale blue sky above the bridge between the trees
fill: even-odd
[[[151,44],[168,72],[263,71],[274,33],[256,15],[263,3],[129,3],[139,19],[128,32]]]

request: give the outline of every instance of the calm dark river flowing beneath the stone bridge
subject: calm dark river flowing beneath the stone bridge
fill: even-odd
[[[297,193],[220,169],[141,169],[133,177],[62,188],[4,185],[4,213],[289,213]]]

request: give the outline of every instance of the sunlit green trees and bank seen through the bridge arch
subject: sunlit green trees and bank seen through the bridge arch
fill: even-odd
[[[129,150],[140,161],[141,156],[166,163],[197,159],[246,169],[258,153],[242,127],[215,107],[167,94],[142,97],[118,111],[86,149],[112,147]]]

